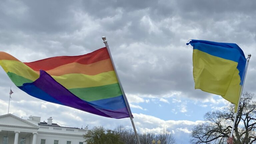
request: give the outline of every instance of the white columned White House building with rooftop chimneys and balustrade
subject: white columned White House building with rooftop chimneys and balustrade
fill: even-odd
[[[83,135],[88,128],[62,127],[40,122],[41,117],[25,120],[13,114],[0,116],[0,144],[85,144]]]

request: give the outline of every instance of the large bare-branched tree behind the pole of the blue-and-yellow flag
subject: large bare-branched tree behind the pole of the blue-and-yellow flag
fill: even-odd
[[[252,101],[254,94],[244,93],[238,110],[234,127],[235,144],[256,143],[256,102]],[[229,137],[234,121],[233,104],[229,104],[224,111],[207,112],[205,121],[192,130],[192,144],[223,144]]]

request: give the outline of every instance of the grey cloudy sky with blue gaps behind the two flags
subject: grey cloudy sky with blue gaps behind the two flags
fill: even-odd
[[[102,48],[106,36],[138,132],[169,129],[189,143],[203,115],[222,109],[220,96],[194,89],[190,39],[237,43],[252,54],[244,91],[256,93],[256,1],[240,0],[1,0],[0,50],[22,62],[82,55]],[[111,119],[31,97],[0,69],[0,114],[53,117],[81,127],[131,127]]]

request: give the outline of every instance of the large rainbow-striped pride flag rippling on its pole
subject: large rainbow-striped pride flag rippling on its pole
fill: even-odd
[[[18,88],[33,97],[104,117],[129,117],[106,47],[24,63],[0,52],[0,65]]]

